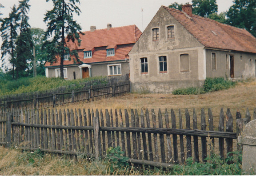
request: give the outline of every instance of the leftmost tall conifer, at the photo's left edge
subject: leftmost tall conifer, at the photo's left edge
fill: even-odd
[[[14,66],[16,64],[16,44],[17,39],[17,27],[19,16],[17,14],[16,6],[12,7],[12,11],[9,13],[9,17],[6,17],[2,20],[0,32],[3,40],[1,51],[2,57],[1,61],[5,60],[5,57],[8,57],[8,60],[12,64],[12,78],[14,79]]]

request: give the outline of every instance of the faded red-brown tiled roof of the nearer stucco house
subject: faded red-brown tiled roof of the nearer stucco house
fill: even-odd
[[[256,38],[245,29],[162,6],[201,44],[208,48],[256,53]]]

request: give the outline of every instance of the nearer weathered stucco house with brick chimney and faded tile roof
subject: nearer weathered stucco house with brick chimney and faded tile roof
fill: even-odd
[[[132,91],[169,93],[198,87],[206,77],[256,76],[256,38],[248,31],[160,7],[129,52]]]

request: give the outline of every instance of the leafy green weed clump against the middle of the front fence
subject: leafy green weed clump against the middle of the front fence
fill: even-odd
[[[107,149],[107,156],[105,161],[108,164],[108,172],[113,173],[117,169],[119,171],[124,171],[128,168],[128,157],[123,156],[124,152],[121,151],[121,147],[117,146],[115,148],[110,147]]]

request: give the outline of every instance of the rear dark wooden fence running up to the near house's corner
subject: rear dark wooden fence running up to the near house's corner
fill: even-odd
[[[46,93],[37,93],[32,96],[17,96],[13,100],[12,97],[0,101],[0,108],[48,108],[57,105],[74,103],[84,100],[95,100],[99,98],[107,98],[111,96],[119,96],[123,93],[130,92],[130,82],[125,81],[120,84],[104,86],[99,88],[89,88],[81,91],[72,91],[64,93],[56,93],[49,91]]]

